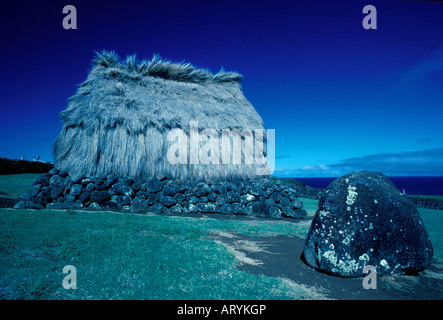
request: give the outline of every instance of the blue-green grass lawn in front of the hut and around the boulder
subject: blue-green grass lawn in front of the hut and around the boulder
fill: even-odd
[[[23,194],[37,176],[2,176],[0,190]],[[317,200],[302,200],[312,216]],[[443,259],[441,212],[419,211]],[[0,209],[0,299],[319,298],[315,288],[240,271],[241,257],[214,237],[304,239],[309,226],[310,220]],[[76,267],[77,290],[62,286],[66,265]]]

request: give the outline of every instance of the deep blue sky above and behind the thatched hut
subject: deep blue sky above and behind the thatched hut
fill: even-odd
[[[107,49],[243,74],[276,175],[443,176],[443,2],[70,1],[77,30],[66,4],[0,4],[0,157],[52,160],[58,113]]]

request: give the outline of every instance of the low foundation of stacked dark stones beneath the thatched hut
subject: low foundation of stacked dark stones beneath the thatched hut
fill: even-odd
[[[303,218],[306,211],[291,185],[258,181],[187,182],[164,176],[125,179],[117,176],[73,180],[52,169],[42,174],[16,209],[86,209],[136,213],[220,213],[269,218]]]

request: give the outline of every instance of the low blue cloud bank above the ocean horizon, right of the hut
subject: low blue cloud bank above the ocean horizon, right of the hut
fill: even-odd
[[[443,176],[443,148],[378,153],[328,165],[282,170],[276,174],[287,177],[336,177],[356,170],[378,171],[387,176]]]

